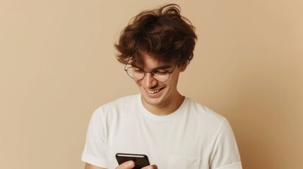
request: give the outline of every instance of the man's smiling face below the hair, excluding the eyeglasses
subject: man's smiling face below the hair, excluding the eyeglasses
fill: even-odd
[[[161,63],[155,58],[148,54],[143,55],[144,71],[150,72],[160,67],[166,67],[165,70],[172,72],[170,78],[165,82],[158,82],[153,78],[151,73],[146,73],[142,80],[135,80],[138,84],[139,89],[142,94],[143,104],[148,106],[158,106],[160,108],[165,108],[165,106],[171,106],[175,103],[175,100],[179,96],[177,92],[177,83],[179,78],[179,73],[184,71],[186,66],[179,68],[174,64]],[[143,66],[136,65],[138,68],[143,68]]]

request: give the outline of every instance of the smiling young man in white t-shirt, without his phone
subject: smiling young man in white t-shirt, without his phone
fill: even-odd
[[[82,155],[86,169],[134,167],[133,161],[119,165],[117,153],[145,154],[155,164],[145,168],[242,168],[227,120],[177,90],[195,42],[194,27],[177,5],[143,11],[131,20],[115,46],[141,94],[93,113]]]

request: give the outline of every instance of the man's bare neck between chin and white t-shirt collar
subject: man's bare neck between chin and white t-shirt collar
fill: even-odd
[[[171,113],[174,113],[174,111],[177,111],[177,109],[182,105],[185,96],[182,96],[177,92],[176,96],[173,96],[174,99],[170,99],[165,104],[161,104],[160,106],[153,106],[150,104],[147,104],[144,101],[143,96],[141,96],[141,101],[143,106],[150,111],[150,113],[153,113],[155,115],[163,116],[163,115],[169,115]]]

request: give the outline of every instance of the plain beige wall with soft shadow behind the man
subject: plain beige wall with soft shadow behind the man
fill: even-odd
[[[95,108],[138,93],[114,40],[164,2],[0,1],[1,168],[83,168]],[[244,168],[302,168],[303,1],[173,2],[198,34],[179,91],[230,121]]]

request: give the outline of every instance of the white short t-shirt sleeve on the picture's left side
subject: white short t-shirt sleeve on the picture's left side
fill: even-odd
[[[98,108],[90,118],[88,132],[86,134],[85,148],[82,154],[82,161],[100,168],[108,168],[106,156],[106,127],[103,123],[105,117],[102,108]]]

